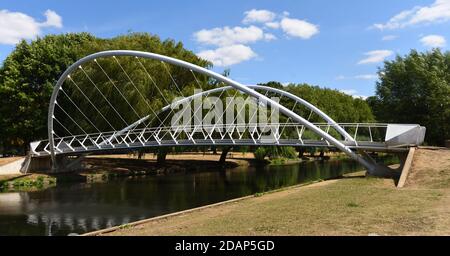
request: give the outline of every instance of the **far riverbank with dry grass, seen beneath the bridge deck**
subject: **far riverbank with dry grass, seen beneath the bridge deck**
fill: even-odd
[[[258,161],[255,160],[253,153],[230,152],[225,163],[220,163],[220,153],[168,154],[164,163],[158,163],[155,154],[144,154],[140,158],[134,154],[87,156],[82,160],[81,170],[58,174],[34,172],[23,174],[17,169],[19,165],[19,167],[14,166],[17,170],[6,168],[0,171],[0,192],[38,191],[63,182],[97,183],[115,178],[224,170],[250,165],[289,165],[318,159],[305,157],[304,159],[279,158]],[[330,154],[340,156],[338,153]],[[330,156],[327,158],[329,159]],[[0,166],[4,167],[15,161],[23,161],[23,157],[0,158],[0,160]]]

